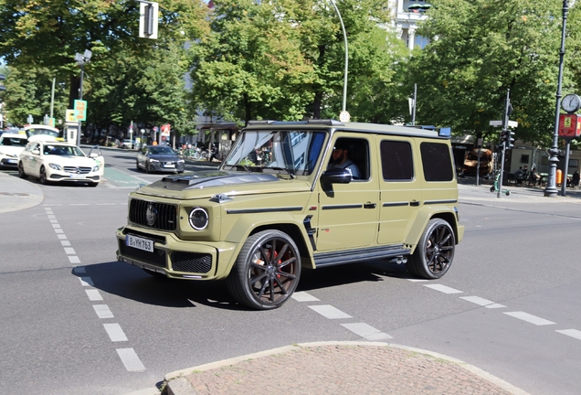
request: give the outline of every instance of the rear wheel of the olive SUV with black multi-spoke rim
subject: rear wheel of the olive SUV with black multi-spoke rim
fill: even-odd
[[[410,272],[427,280],[442,277],[454,260],[455,249],[456,237],[449,223],[444,219],[430,219],[410,257],[409,264],[413,265]]]

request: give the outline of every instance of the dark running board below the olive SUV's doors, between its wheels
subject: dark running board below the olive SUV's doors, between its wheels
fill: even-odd
[[[374,259],[402,258],[409,255],[411,250],[403,244],[388,247],[370,247],[350,251],[321,252],[313,255],[315,267],[333,266],[343,263],[369,261]]]

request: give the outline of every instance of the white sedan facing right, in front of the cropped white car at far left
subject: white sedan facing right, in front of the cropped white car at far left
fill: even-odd
[[[48,136],[28,139],[18,156],[18,175],[37,177],[42,184],[73,181],[97,187],[103,176],[104,158],[99,148],[85,155],[75,144],[60,142]]]

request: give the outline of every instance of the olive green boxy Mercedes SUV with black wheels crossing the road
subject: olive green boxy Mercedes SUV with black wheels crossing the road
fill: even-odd
[[[448,272],[459,224],[449,130],[255,121],[217,170],[164,176],[129,197],[119,261],[173,279],[227,279],[272,309],[301,268],[365,260]]]

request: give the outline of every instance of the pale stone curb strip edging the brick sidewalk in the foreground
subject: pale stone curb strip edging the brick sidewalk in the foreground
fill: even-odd
[[[197,395],[193,385],[190,383],[188,379],[185,378],[188,374],[192,374],[194,372],[202,372],[206,370],[211,370],[214,368],[225,368],[228,366],[236,365],[243,361],[248,361],[250,359],[256,358],[263,358],[277,354],[283,354],[286,352],[290,352],[293,350],[297,350],[301,347],[324,347],[324,346],[373,346],[373,347],[392,347],[392,348],[399,348],[403,350],[407,350],[409,352],[427,355],[432,358],[437,358],[441,360],[445,360],[449,363],[455,364],[460,368],[464,368],[468,370],[470,373],[478,376],[479,378],[490,382],[491,384],[496,385],[497,387],[501,388],[502,390],[506,390],[514,395],[529,395],[528,392],[521,390],[512,384],[499,379],[491,373],[488,373],[481,368],[476,368],[473,365],[470,365],[460,359],[451,358],[445,356],[443,354],[439,354],[436,352],[428,351],[421,348],[416,347],[407,347],[392,343],[385,343],[385,342],[360,342],[360,341],[325,341],[325,342],[312,342],[312,343],[299,343],[292,346],[285,346],[279,348],[273,348],[266,351],[261,351],[258,353],[248,354],[242,357],[236,358],[229,358],[224,359],[217,362],[212,362],[204,365],[199,365],[193,368],[185,368],[181,370],[177,370],[165,375],[165,392],[167,395]]]

